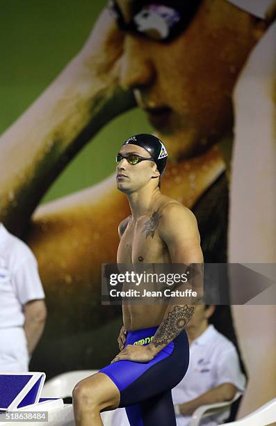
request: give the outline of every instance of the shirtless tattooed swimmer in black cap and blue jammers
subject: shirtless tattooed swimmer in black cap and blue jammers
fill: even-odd
[[[117,263],[202,264],[195,216],[160,191],[168,154],[151,134],[131,136],[117,154],[117,189],[131,216],[119,226]],[[185,326],[194,306],[122,305],[120,353],[73,390],[77,426],[102,425],[101,411],[126,407],[131,426],[174,426],[171,389],[186,374]]]

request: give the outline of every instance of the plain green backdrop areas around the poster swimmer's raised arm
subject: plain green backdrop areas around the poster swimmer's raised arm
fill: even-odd
[[[106,1],[1,0],[0,4],[2,133],[79,52]],[[114,171],[122,141],[141,132],[152,132],[143,111],[133,109],[115,118],[71,161],[42,203],[106,178]]]

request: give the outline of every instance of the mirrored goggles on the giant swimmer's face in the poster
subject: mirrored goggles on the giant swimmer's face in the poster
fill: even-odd
[[[131,21],[126,22],[117,0],[108,8],[122,31],[145,36],[159,42],[170,42],[179,36],[195,16],[201,0],[134,0],[130,2]]]

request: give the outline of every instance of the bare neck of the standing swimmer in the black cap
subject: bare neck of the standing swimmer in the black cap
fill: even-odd
[[[155,189],[143,187],[139,191],[127,194],[133,220],[136,221],[140,216],[152,212],[153,206],[161,196],[159,187]]]

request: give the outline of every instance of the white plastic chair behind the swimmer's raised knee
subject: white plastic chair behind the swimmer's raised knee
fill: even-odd
[[[42,389],[42,398],[66,398],[72,397],[72,391],[76,384],[86,379],[86,377],[95,374],[98,370],[79,370],[70,371],[53,377],[45,382]],[[111,426],[113,411],[104,411],[101,413],[104,426]]]

